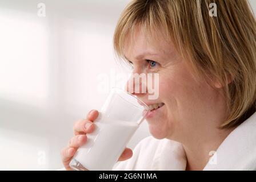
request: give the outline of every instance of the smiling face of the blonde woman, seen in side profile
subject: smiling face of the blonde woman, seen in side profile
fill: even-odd
[[[219,126],[216,113],[225,110],[219,89],[196,81],[188,61],[178,55],[172,43],[161,36],[154,40],[146,37],[137,31],[135,42],[125,46],[125,56],[133,64],[133,73],[159,74],[157,99],[149,100],[149,93],[134,93],[147,105],[164,104],[146,118],[150,133],[158,139],[182,141],[190,139],[191,133],[201,134],[209,132],[209,126]]]

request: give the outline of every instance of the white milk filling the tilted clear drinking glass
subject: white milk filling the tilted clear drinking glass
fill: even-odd
[[[111,170],[138,128],[136,122],[95,121],[95,130],[74,159],[89,170]]]

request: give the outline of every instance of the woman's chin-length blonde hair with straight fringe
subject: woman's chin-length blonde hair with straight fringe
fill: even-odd
[[[217,16],[210,16],[210,3]],[[124,57],[135,27],[161,29],[195,73],[224,86],[228,116],[222,128],[238,126],[256,107],[256,22],[246,0],[134,0],[119,18],[114,49]]]

